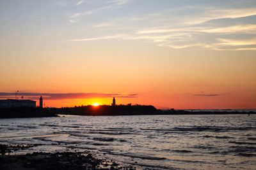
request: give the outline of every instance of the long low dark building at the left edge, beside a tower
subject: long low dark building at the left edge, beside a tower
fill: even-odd
[[[6,99],[0,100],[0,108],[35,108],[36,101]]]

